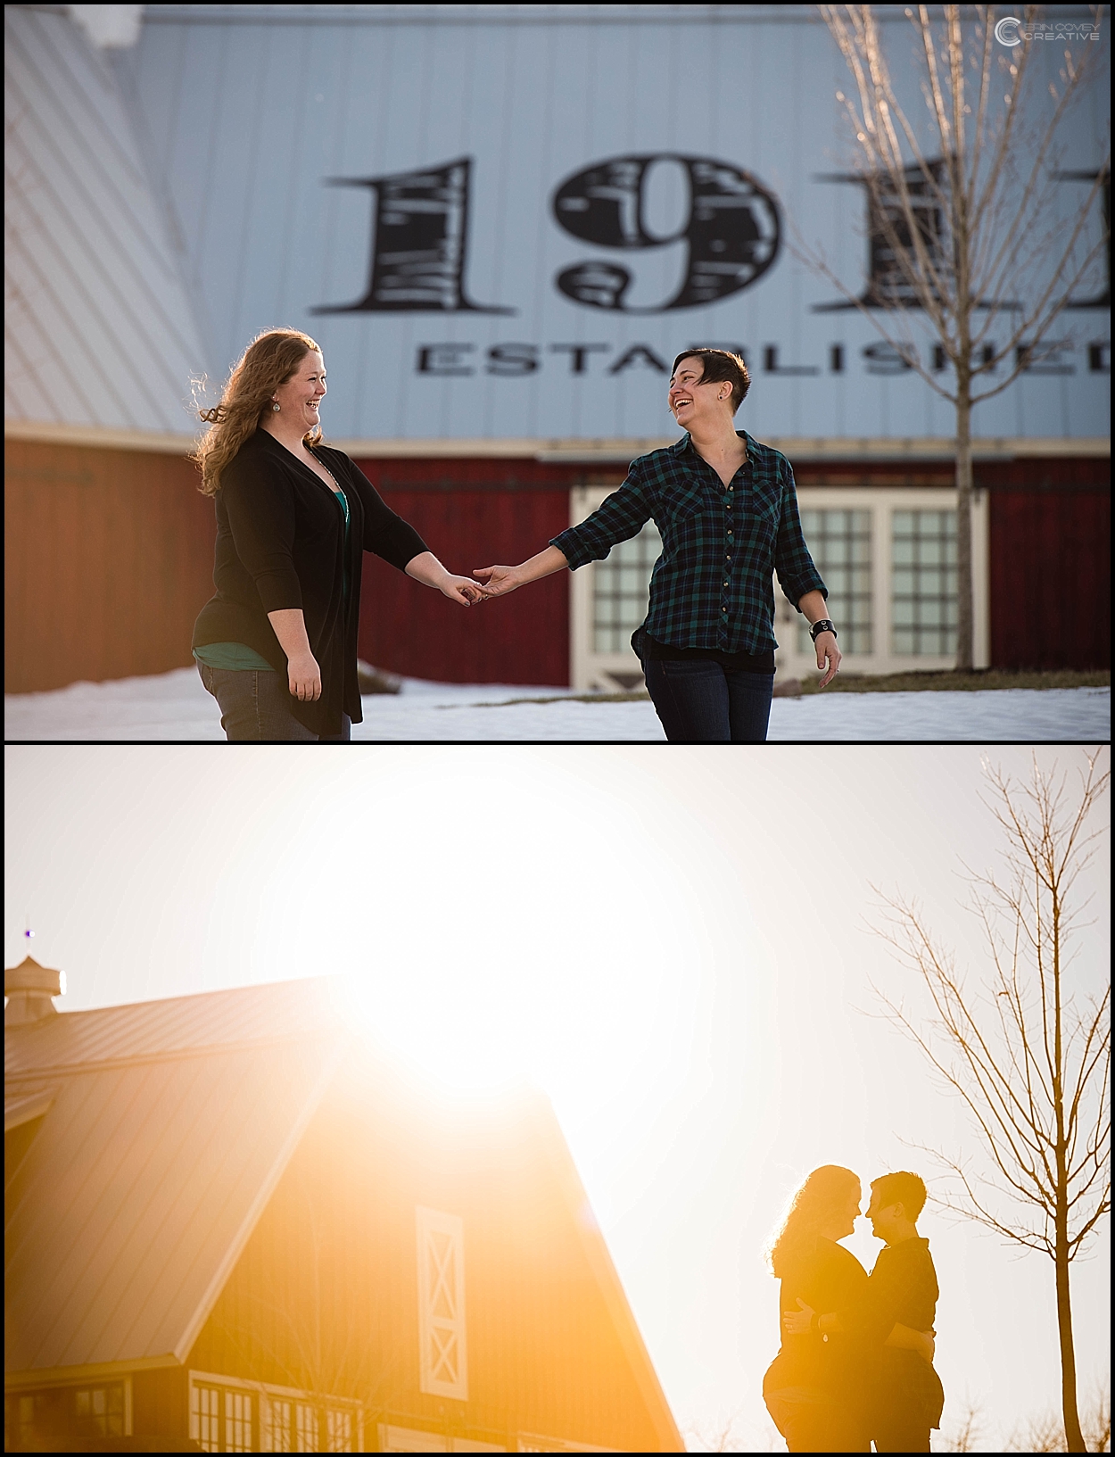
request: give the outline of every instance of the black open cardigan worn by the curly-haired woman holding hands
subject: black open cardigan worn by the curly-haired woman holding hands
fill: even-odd
[[[427,551],[343,450],[316,446],[348,501],[348,602],[343,600],[344,517],[325,482],[265,430],[243,441],[222,472],[216,596],[194,625],[194,647],[246,643],[275,672],[287,657],[267,613],[302,608],[310,650],[321,667],[316,704],[292,698],[290,711],[312,733],[335,736],[341,714],[360,723],[356,640],[360,627],[360,568],[375,552],[399,571]]]

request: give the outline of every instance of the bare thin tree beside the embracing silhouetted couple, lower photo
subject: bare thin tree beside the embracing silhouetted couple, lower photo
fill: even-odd
[[[1111,992],[1077,986],[1070,956],[1083,909],[1073,887],[1100,835],[1089,816],[1109,781],[1100,756],[1086,755],[1073,796],[1067,777],[1045,774],[1036,758],[1025,784],[985,768],[988,807],[1006,836],[1006,873],[969,873],[987,975],[971,985],[920,908],[888,899],[879,932],[915,973],[918,1002],[927,997],[928,1007],[875,988],[885,1016],[961,1100],[982,1145],[982,1174],[966,1158],[933,1151],[950,1174],[939,1202],[1054,1263],[1068,1451],[1087,1450],[1068,1268],[1111,1209]]]

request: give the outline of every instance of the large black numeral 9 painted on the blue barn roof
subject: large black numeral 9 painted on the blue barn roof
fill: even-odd
[[[647,172],[656,162],[676,162],[689,182],[688,216],[668,236],[653,236],[646,223]],[[606,157],[576,172],[554,192],[558,227],[606,248],[665,248],[686,239],[689,256],[678,293],[654,309],[627,309],[625,268],[582,262],[564,268],[555,284],[567,299],[593,309],[662,313],[698,309],[748,288],[778,256],[780,219],[775,198],[740,168],[713,157],[676,153]]]

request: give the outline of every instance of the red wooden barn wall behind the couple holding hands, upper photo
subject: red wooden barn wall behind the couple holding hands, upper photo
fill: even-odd
[[[580,468],[528,459],[360,466],[462,574],[541,551],[568,525],[568,492],[583,479]],[[905,475],[912,484],[927,469]],[[898,484],[889,479],[896,471],[806,462],[799,479]],[[944,463],[937,471],[949,475]],[[1108,667],[1109,460],[979,462],[977,485],[991,492],[993,666]],[[213,592],[216,526],[188,460],[7,440],[4,487],[6,692],[192,661],[194,618]],[[375,557],[364,581],[360,654],[369,661],[442,682],[568,683],[568,573],[468,610]]]

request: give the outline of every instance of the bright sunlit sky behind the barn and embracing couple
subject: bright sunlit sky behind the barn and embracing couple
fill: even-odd
[[[990,867],[978,746],[7,749],[6,965],[79,1010],[356,972],[398,1050],[449,1085],[549,1093],[675,1416],[767,1448],[777,1349],[761,1247],[821,1163],[931,1173],[977,1152],[912,1049],[872,884],[917,895],[961,960],[961,858]],[[1030,750],[995,746],[1026,774]],[[1065,768],[1077,749],[1039,749]],[[1105,810],[1106,813],[1106,810]],[[1108,845],[1081,983],[1108,973]],[[860,1011],[857,1008],[864,1008]],[[1058,1391],[1052,1266],[923,1218],[946,1429],[984,1450]],[[870,1265],[870,1233],[850,1247]],[[1109,1364],[1108,1237],[1076,1268],[1086,1393]],[[777,1441],[777,1440],[775,1440]]]

